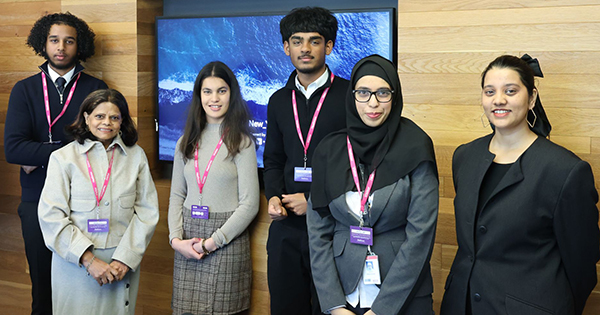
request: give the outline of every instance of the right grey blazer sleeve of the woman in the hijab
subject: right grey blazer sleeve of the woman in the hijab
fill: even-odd
[[[373,302],[375,314],[399,314],[415,294],[415,286],[428,272],[435,241],[439,190],[434,165],[421,163],[410,175],[410,205],[406,241],[402,243]],[[408,303],[407,303],[408,302]]]

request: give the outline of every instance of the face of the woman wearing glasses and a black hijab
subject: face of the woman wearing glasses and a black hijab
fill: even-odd
[[[362,92],[364,94],[367,92],[388,92],[392,90],[384,79],[374,75],[366,75],[358,79],[354,89],[360,91],[358,93]],[[369,101],[366,103],[359,102],[355,98],[354,103],[356,104],[358,116],[369,127],[377,127],[383,124],[392,111],[391,100],[380,102],[375,95],[371,95]]]

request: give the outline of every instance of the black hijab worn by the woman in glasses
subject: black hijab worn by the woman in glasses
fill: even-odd
[[[394,91],[390,114],[377,127],[364,124],[352,93],[356,82],[366,75],[382,78]],[[402,107],[400,79],[392,62],[371,55],[356,63],[346,93],[346,129],[323,139],[313,155],[311,198],[314,209],[325,207],[342,194],[356,190],[346,136],[350,138],[356,162],[366,166],[365,177],[377,169],[372,191],[397,182],[421,162],[429,161],[435,165],[431,139],[410,119],[400,116]]]

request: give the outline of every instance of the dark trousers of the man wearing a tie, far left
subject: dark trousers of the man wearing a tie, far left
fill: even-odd
[[[37,202],[21,202],[18,208],[31,277],[32,315],[52,314],[50,269],[52,252],[46,247],[37,214]]]

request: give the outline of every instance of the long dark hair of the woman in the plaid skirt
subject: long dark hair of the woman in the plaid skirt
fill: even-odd
[[[207,124],[206,112],[204,112],[204,108],[202,107],[201,92],[202,83],[204,82],[204,79],[208,77],[216,77],[225,81],[229,86],[231,93],[229,96],[229,108],[221,123],[221,134],[225,135],[223,137],[223,142],[229,151],[228,156],[234,157],[240,152],[242,146],[247,148],[254,142],[252,129],[248,124],[248,121],[251,118],[250,110],[248,109],[246,101],[242,99],[240,85],[235,78],[235,75],[224,63],[213,61],[200,70],[196,77],[196,82],[194,83],[192,102],[188,108],[188,117],[180,145],[181,153],[188,159],[193,157],[196,143],[200,141],[202,131],[206,128]],[[247,139],[250,139],[251,141],[244,142]]]

